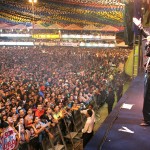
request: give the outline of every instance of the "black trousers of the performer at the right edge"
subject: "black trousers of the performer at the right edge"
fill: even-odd
[[[150,124],[150,73],[145,74],[144,80],[143,117],[144,121]]]

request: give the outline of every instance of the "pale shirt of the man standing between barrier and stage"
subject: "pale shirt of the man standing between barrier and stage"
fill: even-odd
[[[94,128],[94,120],[92,117],[88,117],[85,123],[84,128],[82,129],[82,133],[91,133]]]

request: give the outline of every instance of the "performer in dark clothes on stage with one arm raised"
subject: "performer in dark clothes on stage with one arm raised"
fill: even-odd
[[[145,44],[146,56],[148,57],[145,69],[144,79],[144,103],[143,103],[143,117],[144,121],[141,126],[150,126],[150,33],[143,29],[141,19],[133,18],[133,22],[141,31],[141,34],[146,38]]]

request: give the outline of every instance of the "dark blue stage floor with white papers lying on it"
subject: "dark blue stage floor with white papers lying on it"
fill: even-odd
[[[144,75],[139,75],[84,150],[150,150],[150,126],[140,126],[143,95]],[[133,106],[121,108],[123,103]]]

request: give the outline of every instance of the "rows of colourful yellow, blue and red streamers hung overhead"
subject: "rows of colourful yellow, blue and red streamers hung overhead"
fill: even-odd
[[[29,0],[30,2],[37,2],[37,0]],[[36,6],[35,9],[35,22],[40,21],[43,25],[45,23],[64,23],[64,24],[73,24],[78,25],[96,25],[104,26],[110,24],[113,26],[123,26],[124,25],[124,5],[123,3],[127,1],[121,0],[62,0],[64,4],[62,5],[56,3],[57,0],[51,0],[51,2],[39,2],[41,5],[44,5],[45,11],[39,13],[40,4]],[[105,2],[105,3],[104,3]],[[74,4],[79,4],[78,7],[74,7]],[[103,4],[102,4],[103,3]],[[111,3],[107,5],[106,3]],[[15,5],[14,5],[15,4]],[[86,5],[84,5],[86,4]],[[10,20],[17,23],[26,23],[32,21],[32,11],[26,9],[25,4],[17,5],[16,2],[7,3],[2,5],[3,9],[7,11],[0,14],[1,19]],[[88,6],[88,7],[85,7]],[[24,12],[21,12],[21,8],[24,8],[27,11],[28,15],[24,15]],[[10,8],[10,9],[8,9]],[[49,14],[47,14],[47,12]],[[67,13],[66,13],[67,12]]]

